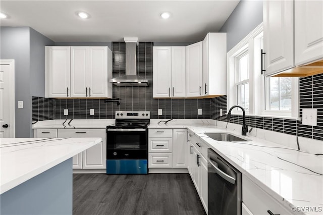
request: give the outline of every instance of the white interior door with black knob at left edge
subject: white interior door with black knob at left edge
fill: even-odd
[[[0,60],[0,138],[15,137],[14,60]]]

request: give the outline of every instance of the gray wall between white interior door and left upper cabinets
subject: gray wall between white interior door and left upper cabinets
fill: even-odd
[[[31,96],[44,96],[44,46],[54,43],[29,27],[1,27],[0,38],[0,59],[15,60],[16,137],[32,137]]]

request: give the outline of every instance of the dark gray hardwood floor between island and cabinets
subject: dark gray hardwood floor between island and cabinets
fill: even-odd
[[[73,214],[205,214],[187,174],[73,175]]]

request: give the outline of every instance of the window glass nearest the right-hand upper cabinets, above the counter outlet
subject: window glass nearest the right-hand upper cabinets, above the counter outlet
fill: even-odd
[[[291,111],[292,109],[292,80],[291,78],[267,78],[265,95],[270,96],[266,100],[269,104],[266,105],[266,110],[273,111]]]

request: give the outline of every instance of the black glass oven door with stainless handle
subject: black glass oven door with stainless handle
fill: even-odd
[[[107,128],[106,159],[147,159],[146,128]]]

